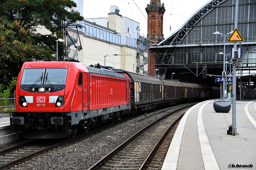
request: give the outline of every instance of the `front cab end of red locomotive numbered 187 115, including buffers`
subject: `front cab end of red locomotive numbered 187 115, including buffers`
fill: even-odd
[[[78,70],[72,62],[25,62],[17,80],[11,130],[21,131],[25,138],[61,138],[74,133],[71,109],[82,110],[71,106]]]

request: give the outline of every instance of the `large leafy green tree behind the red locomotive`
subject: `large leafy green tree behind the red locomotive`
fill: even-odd
[[[0,82],[18,76],[25,61],[55,60],[56,41],[62,33],[53,25],[83,20],[72,0],[0,1]],[[69,8],[69,10],[66,10]],[[19,16],[16,16],[16,14]],[[48,30],[48,34],[39,33]],[[56,39],[57,38],[57,39]],[[59,48],[63,49],[59,43]]]

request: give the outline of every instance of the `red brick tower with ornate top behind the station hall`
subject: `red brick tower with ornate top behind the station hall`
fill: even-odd
[[[163,16],[165,12],[164,3],[161,5],[161,0],[151,0],[145,8],[147,12],[147,38],[153,40],[152,44],[157,44],[164,40],[163,34]],[[150,53],[150,62],[148,63],[148,72],[150,76],[155,76],[155,56]]]

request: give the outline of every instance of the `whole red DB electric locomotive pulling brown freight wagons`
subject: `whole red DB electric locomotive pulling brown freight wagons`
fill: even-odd
[[[10,125],[25,138],[63,138],[120,120],[130,109],[130,81],[124,73],[80,62],[25,62]]]

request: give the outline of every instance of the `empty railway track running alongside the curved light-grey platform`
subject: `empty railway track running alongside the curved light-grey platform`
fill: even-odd
[[[159,169],[159,166],[162,165],[159,165],[159,162],[154,163],[154,159],[156,160],[155,162],[157,162],[160,157],[161,159],[164,159],[165,155],[156,156],[157,154],[155,151],[159,148],[161,143],[164,143],[163,140],[171,129],[173,129],[173,132],[170,133],[170,138],[174,135],[176,130],[174,128],[177,127],[177,122],[184,115],[183,113],[181,115],[173,116],[172,114],[177,111],[171,112],[141,129],[117,148],[105,155],[93,166],[88,168],[88,170],[145,169],[148,166]],[[168,144],[164,144],[166,152],[168,150],[166,149],[166,146],[171,142],[170,138],[166,138]],[[159,153],[160,152],[163,153],[163,151],[159,151]],[[153,160],[153,162],[150,160]],[[163,160],[161,161],[163,162]]]

